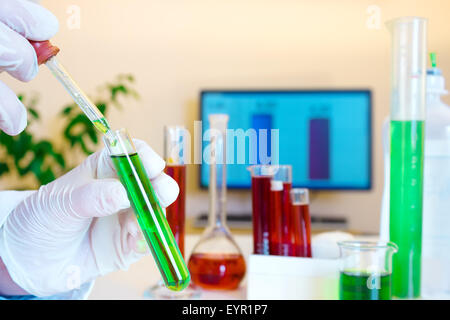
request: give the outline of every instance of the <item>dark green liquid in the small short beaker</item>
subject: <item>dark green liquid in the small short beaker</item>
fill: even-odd
[[[390,300],[391,275],[341,272],[341,300]]]

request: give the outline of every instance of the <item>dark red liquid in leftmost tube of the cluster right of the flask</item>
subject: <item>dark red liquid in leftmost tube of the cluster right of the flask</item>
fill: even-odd
[[[269,254],[271,177],[252,177],[253,252]]]

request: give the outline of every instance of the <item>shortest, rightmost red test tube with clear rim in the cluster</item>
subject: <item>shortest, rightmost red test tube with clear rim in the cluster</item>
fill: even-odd
[[[291,197],[291,223],[294,239],[294,254],[311,258],[311,216],[309,215],[308,189],[294,188]]]

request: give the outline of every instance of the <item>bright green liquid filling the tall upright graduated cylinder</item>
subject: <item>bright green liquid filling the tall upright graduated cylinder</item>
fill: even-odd
[[[390,241],[392,294],[420,296],[424,121],[391,121]]]

